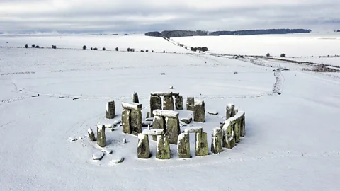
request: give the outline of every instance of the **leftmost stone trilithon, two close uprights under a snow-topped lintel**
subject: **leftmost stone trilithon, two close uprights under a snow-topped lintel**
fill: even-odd
[[[123,133],[138,135],[142,133],[142,104],[122,102]]]

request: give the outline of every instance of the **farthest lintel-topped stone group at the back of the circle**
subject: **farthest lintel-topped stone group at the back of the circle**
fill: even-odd
[[[163,97],[163,104],[162,104]],[[175,97],[175,103],[174,103]],[[150,113],[154,117],[154,110],[183,110],[183,96],[173,92],[152,92],[150,97]]]

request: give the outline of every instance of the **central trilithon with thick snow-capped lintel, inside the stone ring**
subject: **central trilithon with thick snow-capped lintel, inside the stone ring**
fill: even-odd
[[[154,129],[164,129],[169,136],[170,144],[177,144],[177,139],[181,133],[179,127],[179,112],[169,110],[154,110]]]

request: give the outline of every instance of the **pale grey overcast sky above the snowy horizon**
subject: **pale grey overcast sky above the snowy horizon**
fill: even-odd
[[[0,31],[340,29],[340,0],[0,0]]]

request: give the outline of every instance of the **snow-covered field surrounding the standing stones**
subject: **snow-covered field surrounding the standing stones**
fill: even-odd
[[[293,41],[288,46],[263,35],[261,42],[297,57],[337,54],[339,39],[311,40],[312,45],[308,35],[292,35],[301,42],[292,53],[286,51]],[[211,51],[225,54],[273,52],[253,44],[247,50],[242,43],[249,37],[234,37],[235,43],[226,49],[217,39],[231,37],[174,40],[196,45],[196,38],[205,40]],[[318,47],[319,42],[329,46]],[[16,48],[26,43],[70,49]],[[308,49],[297,48],[303,43]],[[274,73],[279,64],[271,68],[208,54],[76,50],[83,45],[191,53],[157,37],[0,36],[1,190],[340,190],[338,73]],[[246,112],[246,136],[234,149],[196,157],[191,135],[192,158],[179,159],[176,145],[171,145],[171,159],[166,161],[155,158],[156,143],[150,139],[152,158],[141,160],[137,137],[117,127],[106,131],[106,148],[113,153],[91,160],[101,149],[84,137],[89,127],[96,132],[98,122],[120,120],[120,103],[130,102],[134,91],[144,120],[150,92],[170,91],[169,86],[183,95],[184,103],[194,96],[205,101],[207,111],[219,112],[207,113],[203,124],[191,122],[208,133],[209,148],[212,129],[225,119],[227,103]],[[105,119],[109,100],[115,100],[114,120]],[[193,115],[179,112],[180,117]],[[69,137],[78,140],[70,142]],[[123,163],[112,163],[121,157]]]

